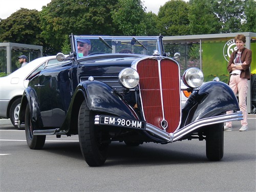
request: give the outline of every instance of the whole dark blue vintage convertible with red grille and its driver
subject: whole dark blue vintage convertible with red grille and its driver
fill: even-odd
[[[70,56],[57,55],[70,62],[35,74],[23,94],[17,123],[31,149],[42,148],[46,135],[78,134],[86,162],[100,166],[113,141],[205,139],[206,157],[222,159],[223,122],[243,118],[227,84],[202,85],[203,73],[187,69],[182,80],[192,93],[182,108],[179,64],[166,57],[161,36],[70,39]]]

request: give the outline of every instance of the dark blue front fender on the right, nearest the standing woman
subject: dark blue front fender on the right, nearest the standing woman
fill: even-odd
[[[194,91],[182,110],[187,115],[186,124],[199,119],[214,117],[227,111],[239,110],[236,95],[230,87],[220,81],[210,81]]]

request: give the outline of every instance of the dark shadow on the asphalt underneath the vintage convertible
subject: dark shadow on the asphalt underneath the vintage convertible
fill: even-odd
[[[184,151],[184,144],[181,151],[177,147],[171,147],[172,144],[167,144],[168,147],[161,148],[161,144],[145,143],[139,146],[126,146],[124,143],[113,142],[109,146],[109,155],[104,166],[114,165],[156,165],[156,164],[175,164],[175,163],[205,163],[208,161],[203,149],[199,153]],[[191,144],[187,144],[190,147]],[[203,147],[204,148],[204,147]],[[77,160],[84,160],[80,151],[79,142],[46,142],[42,150],[73,157]],[[203,151],[202,151],[203,150]]]

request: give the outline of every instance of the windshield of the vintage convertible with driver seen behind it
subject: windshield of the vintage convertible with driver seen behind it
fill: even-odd
[[[159,37],[74,36],[77,58],[95,54],[142,54],[160,52]]]

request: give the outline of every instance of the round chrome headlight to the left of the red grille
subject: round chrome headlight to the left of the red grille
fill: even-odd
[[[118,80],[125,88],[135,88],[139,83],[139,74],[132,68],[125,68],[119,73]]]

